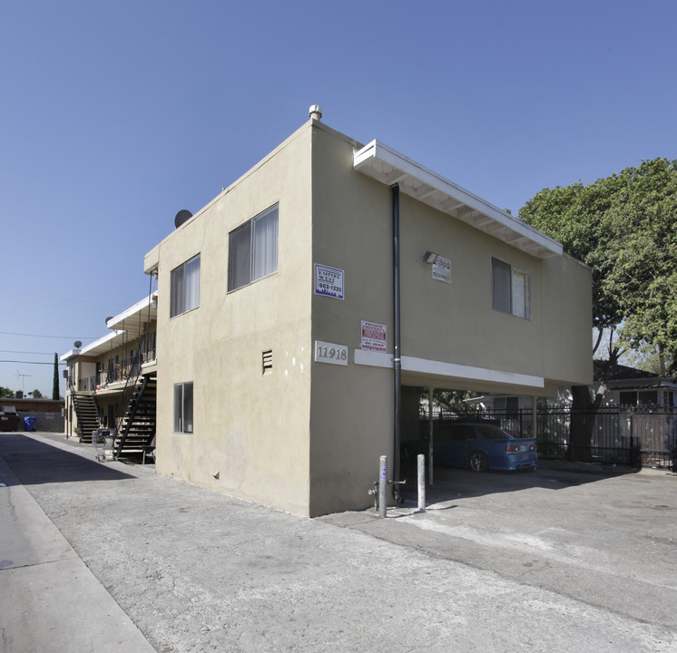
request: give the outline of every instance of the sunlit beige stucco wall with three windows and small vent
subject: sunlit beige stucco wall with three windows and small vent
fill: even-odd
[[[278,272],[227,291],[229,232],[279,203]],[[172,268],[201,255],[200,307],[169,317]],[[162,241],[157,470],[308,513],[310,130],[301,128]],[[272,349],[273,373],[261,355]],[[173,433],[173,385],[193,383],[194,433]]]

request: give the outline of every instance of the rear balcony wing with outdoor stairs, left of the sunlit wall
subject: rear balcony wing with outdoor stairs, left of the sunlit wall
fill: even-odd
[[[66,363],[65,431],[83,442],[101,426],[116,429],[119,453],[142,451],[155,435],[157,293],[118,316],[92,344],[61,356]],[[80,343],[76,343],[80,345]]]

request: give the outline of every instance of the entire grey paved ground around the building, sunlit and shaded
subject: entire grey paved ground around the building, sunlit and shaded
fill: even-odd
[[[425,512],[309,520],[95,454],[0,434],[4,653],[677,650],[666,470],[436,469]]]

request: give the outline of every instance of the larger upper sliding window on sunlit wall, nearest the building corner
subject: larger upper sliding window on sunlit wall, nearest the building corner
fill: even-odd
[[[278,205],[233,229],[229,252],[229,292],[277,272]]]

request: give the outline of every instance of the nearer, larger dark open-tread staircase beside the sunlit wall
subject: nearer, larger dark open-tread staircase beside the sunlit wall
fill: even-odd
[[[155,376],[140,376],[134,385],[131,399],[118,429],[114,443],[114,457],[130,453],[151,453],[155,437]]]

